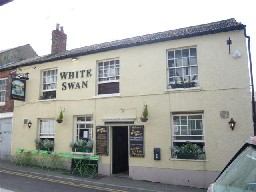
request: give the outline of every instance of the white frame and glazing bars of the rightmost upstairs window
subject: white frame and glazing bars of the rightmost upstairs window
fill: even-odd
[[[190,49],[191,48],[196,48],[196,56],[190,56]],[[182,50],[184,50],[184,49],[189,49],[189,56],[188,57],[183,57],[183,53],[182,53]],[[176,63],[176,57],[175,57],[175,51],[177,51],[177,50],[181,50],[181,60],[182,60],[182,66],[179,66],[179,67],[176,67],[175,66],[175,63]],[[172,59],[168,59],[168,52],[170,52],[170,51],[174,51],[174,67],[169,67],[169,65],[168,65],[168,60],[172,60]],[[183,66],[183,58],[189,58],[189,63],[191,64],[191,61],[190,61],[190,58],[191,57],[196,57],[196,60],[197,60],[197,65],[188,65],[188,66]],[[179,57],[180,58],[180,57]],[[191,76],[192,76],[192,74],[191,74],[191,67],[197,67],[197,69],[198,69],[198,49],[197,49],[197,47],[196,46],[192,46],[192,47],[184,47],[184,48],[175,48],[175,49],[170,49],[170,50],[167,50],[166,51],[166,67],[167,67],[167,85],[169,86],[170,85],[170,81],[169,81],[169,78],[171,78],[171,77],[169,77],[169,69],[177,69],[177,68],[182,68],[182,78],[184,78],[184,75],[183,75],[183,69],[184,68],[190,68],[190,78],[191,78]],[[195,74],[193,74],[193,75],[195,75]],[[186,76],[186,75],[185,75]],[[191,80],[191,82],[196,82],[196,87],[198,87],[199,86],[199,73],[197,74],[197,76],[198,76],[198,80]],[[177,76],[176,76],[176,70],[175,70],[175,76],[173,76],[174,78],[177,78]],[[178,77],[180,77],[180,76],[178,76]],[[176,80],[177,81],[177,80]],[[174,81],[175,82],[175,81]],[[181,81],[177,81],[177,82],[181,82]]]

